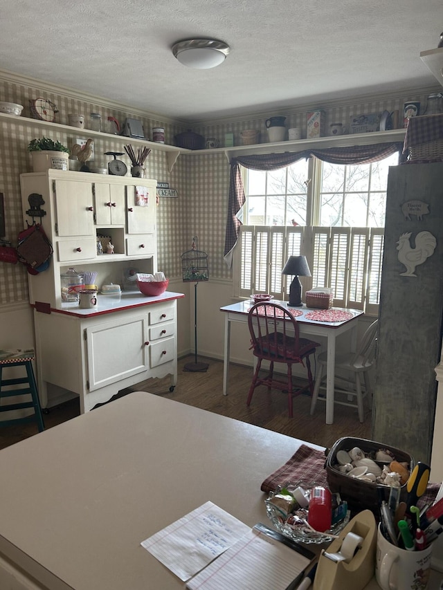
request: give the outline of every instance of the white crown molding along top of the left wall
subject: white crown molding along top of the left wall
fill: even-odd
[[[131,104],[124,104],[122,102],[117,102],[116,100],[105,98],[103,96],[96,96],[87,92],[78,91],[76,89],[70,88],[69,86],[60,86],[59,84],[53,84],[52,82],[46,82],[45,80],[24,76],[15,72],[10,72],[8,70],[0,69],[0,79],[4,80],[5,82],[10,82],[11,84],[19,84],[20,86],[33,86],[33,88],[46,93],[50,92],[53,94],[63,94],[64,96],[72,98],[73,100],[91,102],[93,104],[97,104],[100,107],[104,107],[105,109],[116,109],[117,111],[132,113],[143,118],[154,119],[157,121],[170,123],[172,125],[187,125],[186,121],[168,118],[161,115],[161,113],[143,111],[143,109],[132,107]]]

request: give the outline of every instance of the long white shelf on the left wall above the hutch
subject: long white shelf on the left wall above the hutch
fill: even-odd
[[[71,125],[62,125],[61,123],[51,123],[48,121],[41,121],[39,119],[32,119],[28,117],[17,117],[16,115],[8,115],[7,113],[0,113],[0,121],[9,122],[15,125],[24,125],[26,127],[34,127],[35,129],[42,129],[42,131],[62,131],[70,137],[84,136],[85,138],[98,138],[102,140],[109,140],[120,143],[122,146],[130,142],[132,145],[147,146],[153,150],[165,151],[166,159],[168,160],[168,170],[172,171],[174,164],[180,154],[189,154],[190,149],[177,147],[175,145],[168,145],[165,143],[156,143],[145,139],[138,139],[133,137],[111,135],[111,133],[103,133],[102,131],[93,131],[92,129],[78,129],[78,127],[71,127]]]

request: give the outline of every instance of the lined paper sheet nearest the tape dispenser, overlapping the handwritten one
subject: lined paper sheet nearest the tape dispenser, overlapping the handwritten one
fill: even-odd
[[[311,560],[252,529],[190,580],[189,590],[286,590]]]

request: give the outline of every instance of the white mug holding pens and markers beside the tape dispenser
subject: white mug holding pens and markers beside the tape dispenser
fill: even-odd
[[[392,545],[377,531],[375,578],[383,590],[426,590],[431,573],[432,545],[406,551]]]

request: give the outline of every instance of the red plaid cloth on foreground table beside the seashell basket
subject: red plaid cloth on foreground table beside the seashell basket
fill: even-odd
[[[323,451],[301,445],[289,461],[266,477],[260,489],[269,493],[289,481],[297,483],[301,480],[315,481],[318,486],[327,486],[325,462],[326,457]]]

